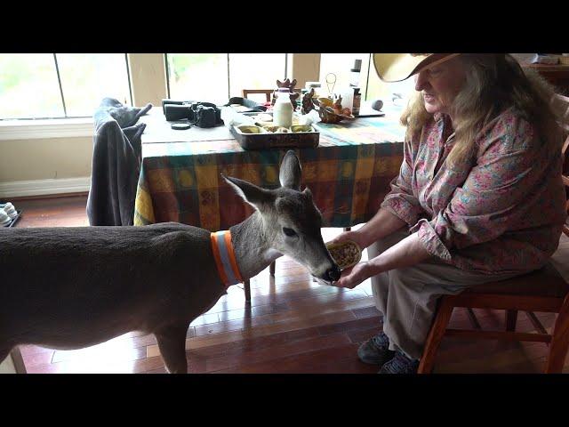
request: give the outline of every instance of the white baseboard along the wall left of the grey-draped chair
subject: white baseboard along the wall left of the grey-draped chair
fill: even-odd
[[[91,177],[62,178],[59,180],[34,180],[0,182],[0,197],[49,196],[61,193],[85,193],[91,188]]]

